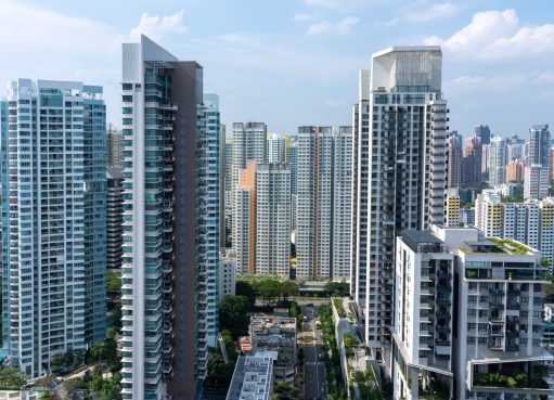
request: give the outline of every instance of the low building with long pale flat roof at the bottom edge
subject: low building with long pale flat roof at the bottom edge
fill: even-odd
[[[241,356],[226,400],[270,400],[273,392],[273,359]]]

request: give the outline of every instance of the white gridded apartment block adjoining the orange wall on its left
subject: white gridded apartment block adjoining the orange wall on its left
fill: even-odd
[[[256,165],[256,273],[288,279],[291,267],[291,166]]]

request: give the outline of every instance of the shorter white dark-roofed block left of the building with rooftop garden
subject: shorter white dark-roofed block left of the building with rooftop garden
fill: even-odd
[[[429,231],[396,242],[394,398],[416,400],[441,389],[451,398],[454,257]]]

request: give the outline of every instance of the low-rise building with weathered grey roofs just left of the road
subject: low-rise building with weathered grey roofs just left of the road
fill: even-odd
[[[250,318],[249,334],[253,353],[278,352],[273,365],[275,382],[293,385],[296,379],[298,360],[296,319],[255,315]]]

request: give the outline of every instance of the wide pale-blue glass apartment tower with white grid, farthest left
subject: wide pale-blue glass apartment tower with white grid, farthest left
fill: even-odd
[[[31,377],[105,337],[102,91],[18,79],[2,106],[3,351]]]

